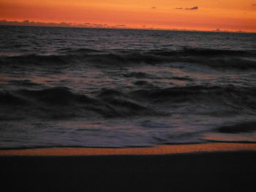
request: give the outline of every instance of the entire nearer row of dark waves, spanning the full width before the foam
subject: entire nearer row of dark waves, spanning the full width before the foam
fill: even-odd
[[[86,96],[66,87],[40,90],[0,91],[0,118],[128,118],[171,115],[170,110],[193,106],[200,112],[205,106],[212,114],[256,112],[256,89],[235,87],[144,88],[119,91],[103,88]],[[13,112],[15,111],[15,112]],[[191,111],[187,110],[187,113]]]

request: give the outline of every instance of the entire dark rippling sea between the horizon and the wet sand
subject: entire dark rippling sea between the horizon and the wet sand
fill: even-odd
[[[256,142],[256,34],[0,26],[0,148]]]

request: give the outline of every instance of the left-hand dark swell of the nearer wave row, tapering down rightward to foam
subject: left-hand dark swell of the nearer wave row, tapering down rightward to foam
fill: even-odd
[[[104,94],[102,92],[102,94]],[[120,118],[155,115],[148,107],[127,99],[91,98],[66,87],[41,90],[0,91],[0,119],[23,118]],[[15,111],[15,112],[12,112]]]

